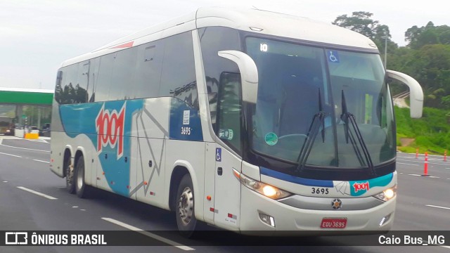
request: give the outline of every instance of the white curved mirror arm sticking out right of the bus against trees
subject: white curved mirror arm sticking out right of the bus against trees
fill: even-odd
[[[397,72],[394,70],[386,70],[387,76],[396,79],[409,86],[409,99],[411,108],[411,118],[418,119],[422,117],[423,111],[423,90],[420,84],[410,77],[408,74]]]

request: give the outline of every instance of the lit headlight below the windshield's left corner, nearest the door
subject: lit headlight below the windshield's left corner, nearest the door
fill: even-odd
[[[292,193],[278,189],[275,186],[262,183],[255,179],[250,179],[248,176],[245,176],[244,174],[236,171],[236,169],[233,169],[233,174],[234,176],[236,176],[236,179],[238,179],[240,183],[242,183],[247,188],[255,190],[255,192],[260,193],[266,197],[270,197],[271,199],[279,200],[283,197],[293,195]]]

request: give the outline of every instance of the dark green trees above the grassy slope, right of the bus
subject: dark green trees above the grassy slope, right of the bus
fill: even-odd
[[[389,27],[372,16],[369,12],[355,11],[351,16],[338,16],[333,24],[366,35],[382,54],[387,44],[387,69],[416,79],[425,93],[425,106],[450,110],[450,27],[435,26],[431,21],[422,27],[411,24],[405,31],[408,44],[399,47],[390,39]],[[406,86],[392,85],[394,94],[404,90]]]

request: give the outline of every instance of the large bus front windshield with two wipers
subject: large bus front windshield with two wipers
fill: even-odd
[[[304,166],[361,169],[393,160],[395,129],[376,53],[248,37],[259,74],[252,149]]]

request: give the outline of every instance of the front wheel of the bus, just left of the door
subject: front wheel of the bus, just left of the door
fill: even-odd
[[[197,225],[193,189],[191,176],[189,174],[184,175],[176,191],[175,215],[178,230],[186,238],[193,237]]]

